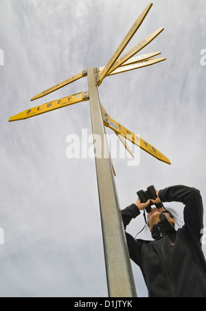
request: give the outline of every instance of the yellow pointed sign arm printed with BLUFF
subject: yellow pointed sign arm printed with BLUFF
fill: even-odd
[[[27,118],[32,118],[34,116],[38,116],[40,114],[45,114],[49,111],[53,111],[56,109],[60,109],[62,107],[67,107],[69,105],[81,103],[82,101],[89,100],[89,92],[83,92],[83,93],[78,93],[74,94],[71,96],[67,96],[65,98],[61,98],[58,100],[54,100],[52,102],[49,102],[47,104],[37,106],[31,109],[27,109],[20,114],[16,114],[16,116],[12,116],[9,120],[9,122],[13,121],[19,121],[19,120],[24,120]]]

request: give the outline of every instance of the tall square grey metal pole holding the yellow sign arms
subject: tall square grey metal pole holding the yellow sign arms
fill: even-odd
[[[87,68],[109,297],[137,297],[93,67]]]

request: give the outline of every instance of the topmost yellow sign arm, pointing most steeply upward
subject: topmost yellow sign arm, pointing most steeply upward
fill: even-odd
[[[120,43],[119,47],[117,47],[117,50],[113,54],[113,56],[110,58],[106,66],[104,67],[104,70],[100,74],[100,83],[102,83],[103,79],[107,76],[108,72],[110,71],[111,67],[117,61],[117,58],[122,54],[124,51],[126,45],[130,42],[130,40],[133,38],[141,24],[143,23],[144,19],[146,18],[148,12],[150,11],[150,8],[152,8],[152,3],[149,3],[148,6],[145,8],[145,10],[141,13],[141,15],[138,17],[137,21],[133,24],[132,28],[130,28],[129,32],[124,37],[123,41]]]

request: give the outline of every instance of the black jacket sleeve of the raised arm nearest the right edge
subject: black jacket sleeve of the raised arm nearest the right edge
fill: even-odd
[[[187,186],[172,186],[159,191],[162,202],[182,202],[185,204],[184,221],[187,232],[193,239],[201,239],[203,229],[203,201],[200,191]]]

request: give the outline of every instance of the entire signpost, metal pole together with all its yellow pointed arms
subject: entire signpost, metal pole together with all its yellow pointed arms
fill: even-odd
[[[47,94],[50,94],[57,89],[60,89],[61,87],[65,87],[65,85],[69,85],[69,83],[77,81],[78,79],[85,76],[88,78],[89,90],[86,92],[73,94],[59,100],[54,100],[52,102],[46,103],[45,105],[27,109],[21,114],[16,114],[16,116],[13,116],[9,120],[12,122],[16,120],[32,118],[55,109],[89,100],[93,135],[95,136],[95,134],[98,134],[102,138],[102,142],[99,142],[98,144],[94,139],[94,144],[109,297],[137,297],[137,293],[135,290],[132,268],[130,266],[126,236],[124,233],[124,226],[122,224],[122,216],[115,186],[115,172],[111,162],[108,142],[106,141],[105,127],[115,131],[130,154],[133,155],[132,151],[130,151],[128,145],[126,144],[126,140],[129,140],[133,144],[137,145],[137,147],[143,149],[158,160],[161,160],[167,164],[171,164],[170,160],[163,156],[163,154],[155,147],[148,144],[148,142],[139,138],[139,136],[136,136],[132,131],[126,129],[126,127],[120,125],[119,122],[108,116],[108,113],[100,103],[98,94],[98,87],[100,87],[104,78],[108,76],[120,74],[122,72],[128,72],[133,69],[154,65],[155,63],[165,61],[164,57],[153,58],[161,54],[161,52],[135,56],[135,54],[137,54],[152,40],[154,40],[163,31],[163,28],[159,28],[159,30],[150,34],[150,36],[146,37],[143,41],[135,45],[133,49],[121,56],[126,45],[128,45],[130,40],[139,29],[141,23],[143,23],[148,12],[150,11],[150,8],[152,8],[152,3],[148,4],[144,12],[142,12],[137,21],[135,21],[132,28],[130,28],[128,34],[126,34],[119,47],[117,47],[117,50],[108,61],[106,66],[95,69],[94,67],[88,67],[83,72],[76,74],[76,76],[72,76],[62,83],[46,89],[44,92],[34,96],[31,100],[36,100],[46,96]]]

